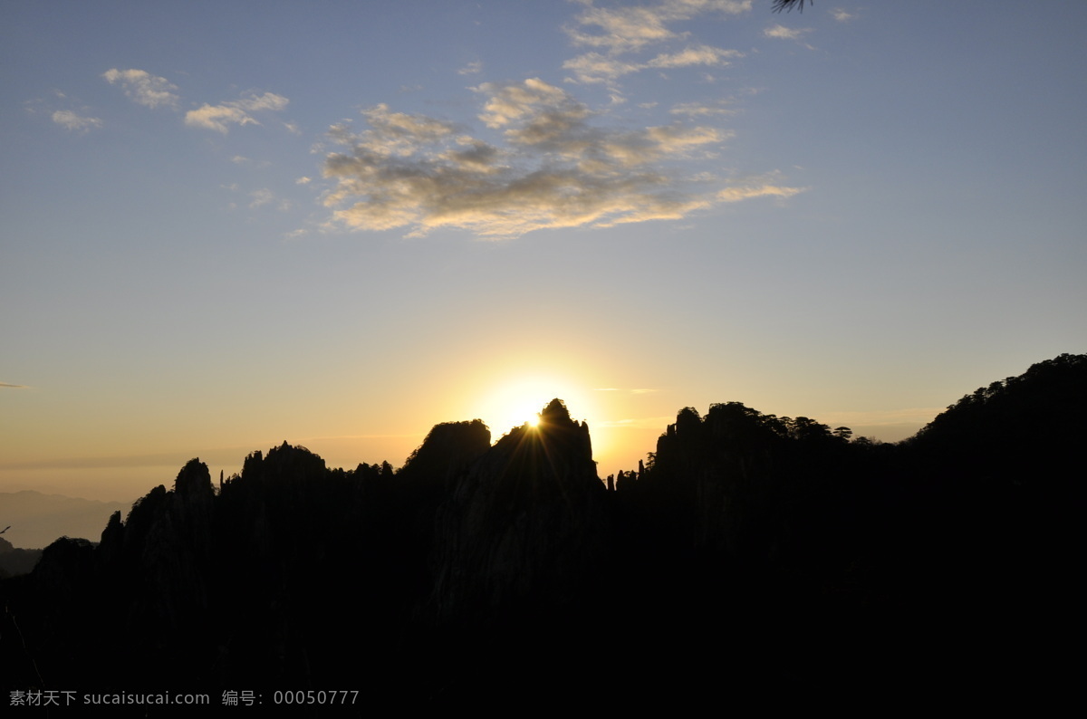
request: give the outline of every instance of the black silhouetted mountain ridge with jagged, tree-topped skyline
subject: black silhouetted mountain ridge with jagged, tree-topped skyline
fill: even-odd
[[[58,541],[0,584],[2,689],[1052,693],[1071,673],[1048,643],[1077,596],[1085,388],[1087,357],[1062,355],[898,445],[688,408],[615,491],[559,401],[493,446],[478,420],[439,425],[397,472],[284,444],[216,493],[192,461],[97,547]]]

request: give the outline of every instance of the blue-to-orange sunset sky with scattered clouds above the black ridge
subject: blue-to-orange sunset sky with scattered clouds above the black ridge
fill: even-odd
[[[563,399],[897,441],[1087,351],[1087,3],[0,5],[0,491]]]

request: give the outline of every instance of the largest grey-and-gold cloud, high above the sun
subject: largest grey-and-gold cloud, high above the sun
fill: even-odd
[[[330,128],[330,139],[348,147],[324,163],[335,182],[325,203],[336,220],[363,230],[409,227],[411,236],[455,227],[499,239],[675,219],[714,201],[686,187],[669,165],[704,154],[727,133],[596,124],[597,113],[537,78],[475,90],[485,97],[478,117],[501,133],[502,146],[384,104],[363,113],[368,129]]]

